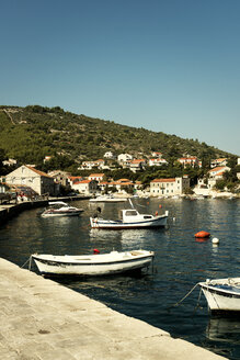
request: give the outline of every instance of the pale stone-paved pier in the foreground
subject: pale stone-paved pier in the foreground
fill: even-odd
[[[0,258],[0,359],[224,358]]]

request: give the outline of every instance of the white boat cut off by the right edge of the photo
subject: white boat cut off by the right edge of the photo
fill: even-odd
[[[212,313],[240,313],[240,278],[199,282]]]

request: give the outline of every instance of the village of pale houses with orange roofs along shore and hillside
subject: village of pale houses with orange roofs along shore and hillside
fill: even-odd
[[[168,161],[159,151],[152,151],[148,159],[136,159],[130,154],[121,154],[117,157],[112,151],[104,155],[104,159],[82,161],[79,170],[91,170],[87,177],[71,176],[71,173],[60,169],[48,171],[38,170],[34,165],[18,166],[16,160],[8,159],[3,166],[12,167],[14,170],[0,177],[0,200],[11,194],[16,201],[32,201],[44,196],[60,196],[62,189],[68,195],[95,196],[102,193],[114,193],[116,196],[157,196],[157,198],[232,198],[239,196],[240,172],[237,172],[237,190],[217,187],[226,173],[231,170],[228,166],[228,158],[213,159],[210,169],[203,178],[197,179],[197,183],[191,187],[190,177],[184,175],[175,178],[155,178],[144,185],[140,181],[119,178],[117,180],[107,179],[105,170],[111,170],[107,160],[115,160],[118,168],[129,169],[137,173],[145,171],[146,167],[161,167]],[[46,156],[44,162],[49,161],[50,156]],[[194,156],[186,156],[178,159],[183,168],[201,168],[202,161]],[[240,166],[240,158],[237,159],[237,168]]]

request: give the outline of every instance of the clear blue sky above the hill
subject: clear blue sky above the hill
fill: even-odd
[[[61,106],[240,156],[239,0],[0,5],[0,104]]]

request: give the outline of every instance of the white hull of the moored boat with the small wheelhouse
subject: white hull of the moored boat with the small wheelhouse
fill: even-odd
[[[106,221],[98,217],[90,217],[92,228],[102,229],[133,229],[133,228],[149,228],[167,226],[168,215],[157,216],[153,220],[145,220],[137,222]]]

